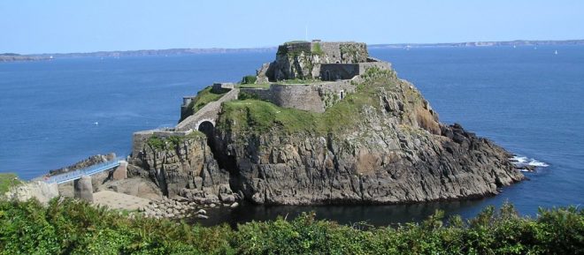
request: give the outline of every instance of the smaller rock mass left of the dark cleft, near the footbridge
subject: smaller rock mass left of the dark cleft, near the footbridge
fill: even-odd
[[[194,131],[182,138],[153,137],[149,141],[140,154],[133,155],[131,163],[137,167],[134,175],[149,176],[165,196],[203,203],[234,197],[229,173],[219,168],[203,133]]]

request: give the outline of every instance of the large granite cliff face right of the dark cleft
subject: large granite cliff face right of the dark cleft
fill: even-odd
[[[357,118],[342,131],[234,132],[222,118],[216,151],[234,166],[234,190],[258,204],[388,204],[484,197],[522,179],[511,154],[459,124],[441,124],[395,73],[364,86],[376,103],[338,116]]]

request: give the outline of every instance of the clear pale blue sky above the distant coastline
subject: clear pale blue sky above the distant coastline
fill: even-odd
[[[0,13],[0,53],[19,54],[584,39],[580,0],[2,0]]]

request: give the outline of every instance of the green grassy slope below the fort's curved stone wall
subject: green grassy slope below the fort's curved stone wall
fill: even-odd
[[[365,84],[357,86],[354,94],[347,94],[324,113],[314,113],[301,109],[280,108],[267,101],[258,101],[253,97],[240,101],[228,101],[223,104],[217,126],[223,130],[248,133],[281,131],[285,133],[310,132],[325,135],[330,132],[354,129],[361,122],[360,111],[364,107],[380,110],[379,97],[376,95],[380,86],[387,89],[395,87],[393,71],[371,68],[365,72]],[[390,79],[388,79],[390,78]]]

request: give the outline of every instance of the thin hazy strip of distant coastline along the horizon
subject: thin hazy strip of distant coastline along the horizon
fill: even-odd
[[[388,48],[426,48],[426,47],[493,47],[493,46],[540,46],[540,45],[584,45],[584,40],[564,40],[564,41],[466,41],[466,42],[443,42],[443,43],[388,43],[370,44],[369,49]],[[139,49],[139,50],[114,50],[96,51],[85,53],[44,53],[19,55],[14,53],[0,54],[0,62],[11,61],[37,61],[50,60],[52,58],[74,58],[74,57],[123,57],[123,56],[181,56],[196,54],[221,54],[221,53],[253,53],[253,52],[273,52],[277,47],[259,47],[242,49]]]

